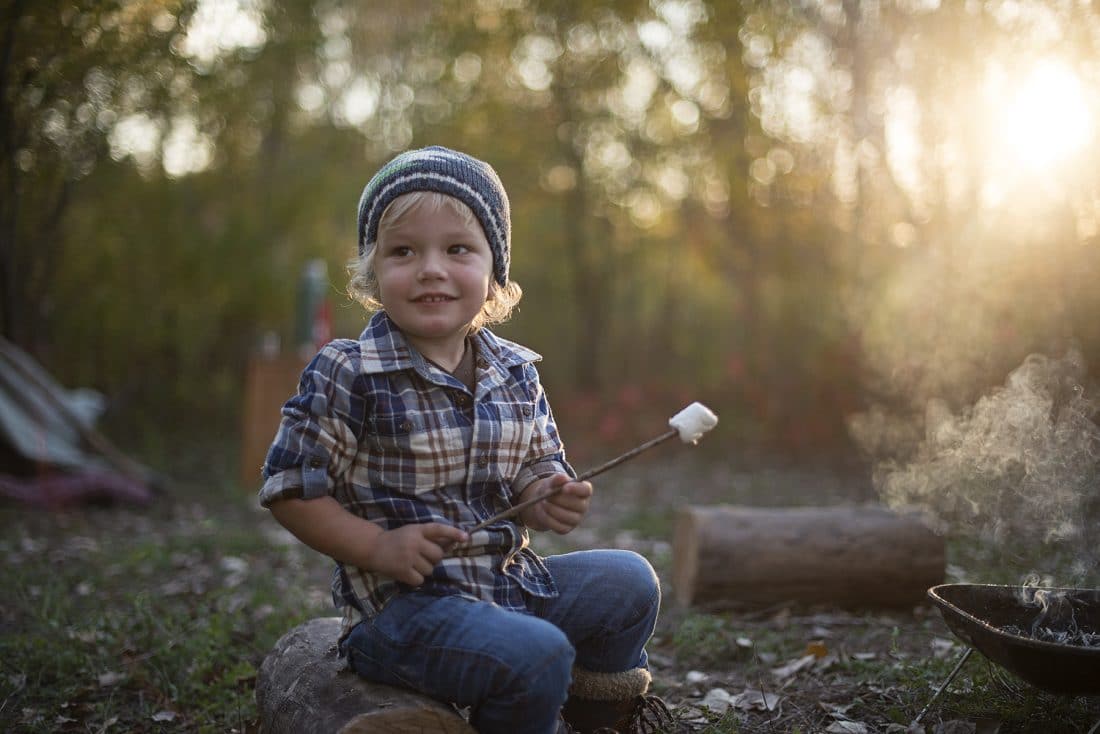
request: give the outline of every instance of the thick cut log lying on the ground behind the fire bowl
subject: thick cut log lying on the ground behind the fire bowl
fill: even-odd
[[[942,537],[876,506],[684,507],[672,555],[676,601],[711,609],[910,606],[946,568]]]

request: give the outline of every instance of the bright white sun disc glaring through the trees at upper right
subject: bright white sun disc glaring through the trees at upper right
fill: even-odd
[[[1092,119],[1085,88],[1066,64],[1044,61],[1021,77],[1000,76],[992,87],[993,124],[1005,157],[1038,171],[1088,143]]]

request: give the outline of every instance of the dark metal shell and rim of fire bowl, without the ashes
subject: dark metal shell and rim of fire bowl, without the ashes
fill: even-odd
[[[1100,629],[1100,589],[1046,589],[1064,592],[1077,624]],[[1022,587],[945,583],[928,589],[944,622],[956,636],[1028,683],[1053,693],[1100,694],[1100,647],[1062,645],[1000,629],[1027,629],[1036,616],[1023,603]]]

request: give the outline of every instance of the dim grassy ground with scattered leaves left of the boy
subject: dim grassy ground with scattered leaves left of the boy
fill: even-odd
[[[0,731],[249,731],[266,651],[332,614],[327,563],[250,502],[4,507]]]

